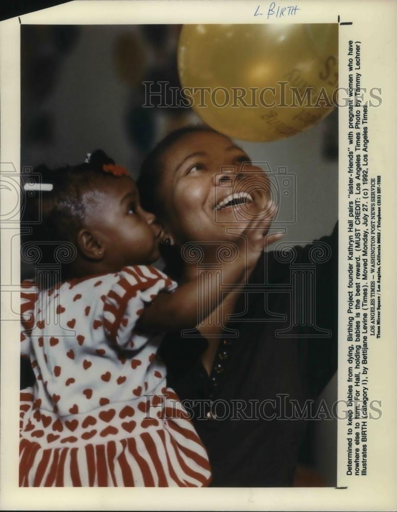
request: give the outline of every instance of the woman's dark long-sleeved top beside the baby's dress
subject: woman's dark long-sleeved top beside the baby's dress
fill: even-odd
[[[293,250],[293,262],[274,251],[259,260],[246,291],[256,288],[241,294],[241,316],[226,326],[238,336],[224,330],[210,376],[201,362],[207,340],[198,331],[168,334],[160,348],[168,385],[194,414],[210,456],[212,486],[290,486],[309,423],[288,419],[291,403],[305,411],[305,400],[314,401],[337,369],[337,226],[330,237]],[[327,261],[313,264],[322,253]],[[319,329],[330,333],[319,336]],[[210,410],[219,419],[208,418]],[[285,419],[266,419],[274,413]]]

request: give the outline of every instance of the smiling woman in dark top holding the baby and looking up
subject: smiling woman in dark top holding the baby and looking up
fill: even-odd
[[[138,188],[172,241],[163,257],[179,282],[219,267],[219,249],[240,238],[250,216],[275,215],[266,173],[205,126],[165,137]],[[199,268],[181,258],[186,243],[200,248]],[[337,243],[335,228],[304,247],[264,253],[195,331],[166,336],[168,382],[192,411],[211,485],[292,485],[311,407],[337,367]]]

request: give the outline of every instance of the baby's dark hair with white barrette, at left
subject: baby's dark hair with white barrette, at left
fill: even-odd
[[[78,165],[66,165],[49,169],[41,164],[33,171],[38,175],[41,184],[52,185],[52,190],[25,191],[25,208],[23,225],[30,228],[30,234],[24,237],[27,247],[36,246],[40,253],[40,265],[56,263],[54,254],[57,247],[67,244],[75,245],[76,234],[85,218],[85,206],[82,196],[98,185],[98,180],[109,179],[111,174],[105,173],[103,165],[114,161],[102,150],[96,150],[87,156],[86,162]],[[29,183],[29,179],[27,180]],[[24,258],[24,244],[22,246]],[[62,278],[67,277],[69,265],[62,265]]]

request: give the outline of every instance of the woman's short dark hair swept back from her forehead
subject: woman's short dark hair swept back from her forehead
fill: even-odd
[[[152,212],[152,214],[160,219],[165,214],[164,205],[158,194],[163,171],[161,157],[164,155],[165,151],[179,139],[185,135],[197,132],[218,133],[216,130],[206,125],[197,124],[184,126],[164,137],[153,148],[141,165],[139,178],[136,182],[141,205],[145,210]]]

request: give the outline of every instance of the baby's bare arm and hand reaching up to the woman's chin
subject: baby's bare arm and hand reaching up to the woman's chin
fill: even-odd
[[[251,223],[249,229],[245,230],[249,245],[248,258],[242,242],[238,244],[237,258],[233,262],[224,263],[222,277],[225,283],[241,283],[245,271],[257,263],[265,244],[280,238],[276,234],[266,238],[268,227],[265,232],[254,230],[258,222],[260,220]],[[213,272],[203,269],[200,283],[198,279],[194,279],[183,283],[173,293],[159,293],[141,314],[137,330],[144,332],[193,328],[216,309],[230,291],[222,293]],[[200,302],[206,307],[199,308]]]

